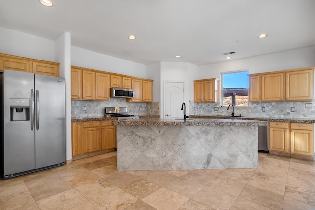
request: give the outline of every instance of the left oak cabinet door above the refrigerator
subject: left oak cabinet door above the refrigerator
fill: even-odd
[[[0,72],[3,70],[33,72],[33,62],[29,60],[0,57]]]

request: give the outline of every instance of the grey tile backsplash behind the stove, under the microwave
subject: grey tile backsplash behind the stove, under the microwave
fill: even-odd
[[[105,107],[127,107],[130,115],[159,115],[159,102],[128,103],[124,98],[110,98],[110,101],[72,100],[71,117],[103,117]]]

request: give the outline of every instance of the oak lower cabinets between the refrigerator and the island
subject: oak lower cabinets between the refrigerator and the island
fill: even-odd
[[[111,121],[72,122],[72,156],[116,148]]]

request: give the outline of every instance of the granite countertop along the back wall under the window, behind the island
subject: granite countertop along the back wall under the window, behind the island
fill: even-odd
[[[232,116],[197,116],[190,115],[190,118],[206,118],[206,119],[240,119],[240,120],[258,120],[258,121],[272,121],[272,122],[295,122],[295,123],[315,123],[315,118],[300,118],[300,119],[292,119],[292,118],[267,118],[267,117],[232,117]]]

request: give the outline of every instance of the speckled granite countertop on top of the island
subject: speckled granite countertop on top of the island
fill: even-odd
[[[195,118],[184,120],[142,118],[129,120],[114,120],[112,125],[122,126],[266,126],[267,121],[238,120],[238,119],[204,119]]]

